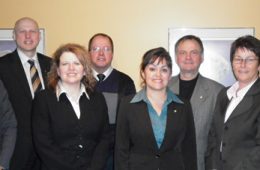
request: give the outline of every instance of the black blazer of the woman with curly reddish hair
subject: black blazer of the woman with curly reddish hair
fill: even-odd
[[[97,92],[80,98],[80,119],[63,93],[44,90],[33,103],[33,139],[42,170],[103,170],[109,133],[105,99]]]

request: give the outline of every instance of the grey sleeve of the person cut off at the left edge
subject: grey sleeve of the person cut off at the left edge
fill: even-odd
[[[0,91],[0,131],[2,140],[0,146],[0,165],[8,169],[9,161],[15,147],[17,122],[7,92],[1,81]]]

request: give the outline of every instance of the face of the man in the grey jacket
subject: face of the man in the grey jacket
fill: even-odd
[[[175,60],[181,73],[197,74],[203,62],[199,44],[195,40],[184,40],[177,48]]]

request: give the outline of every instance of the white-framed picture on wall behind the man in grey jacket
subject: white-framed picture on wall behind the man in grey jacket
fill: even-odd
[[[170,28],[169,53],[173,60],[173,75],[179,74],[175,43],[185,35],[195,35],[200,37],[204,46],[204,61],[199,69],[201,75],[225,86],[232,85],[235,78],[230,65],[231,43],[240,36],[254,34],[254,28]]]

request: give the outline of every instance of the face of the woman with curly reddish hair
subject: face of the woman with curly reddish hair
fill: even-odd
[[[65,85],[80,85],[85,75],[83,65],[72,52],[64,52],[61,55],[57,73]]]

